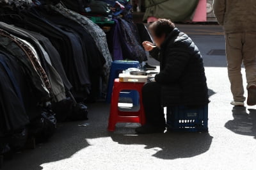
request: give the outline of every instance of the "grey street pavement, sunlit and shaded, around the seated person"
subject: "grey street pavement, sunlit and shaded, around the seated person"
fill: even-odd
[[[221,27],[177,27],[191,36],[204,56],[211,95],[209,134],[136,135],[138,125],[131,123],[120,123],[111,133],[106,130],[109,104],[90,104],[90,120],[59,123],[49,143],[17,153],[4,162],[4,169],[255,169],[256,107],[229,104],[225,56],[210,55],[211,50],[221,54],[225,49]],[[78,127],[81,123],[89,125]]]

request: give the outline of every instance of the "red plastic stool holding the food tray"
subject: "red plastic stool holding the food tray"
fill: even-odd
[[[111,98],[111,108],[108,121],[108,130],[114,131],[116,123],[140,123],[145,124],[145,112],[142,104],[141,89],[144,82],[120,82],[115,79]],[[140,110],[138,112],[124,112],[118,110],[119,93],[122,90],[136,90],[140,94]]]

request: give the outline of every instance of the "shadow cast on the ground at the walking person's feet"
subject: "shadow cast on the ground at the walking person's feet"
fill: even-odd
[[[250,135],[256,139],[256,110],[246,107],[233,107],[234,120],[230,120],[225,127],[240,135]]]

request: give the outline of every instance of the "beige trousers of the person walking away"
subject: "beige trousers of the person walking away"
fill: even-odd
[[[241,65],[246,71],[247,89],[256,85],[256,33],[226,34],[228,78],[235,101],[244,102]]]

